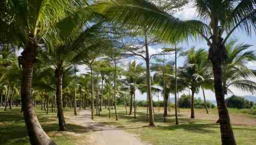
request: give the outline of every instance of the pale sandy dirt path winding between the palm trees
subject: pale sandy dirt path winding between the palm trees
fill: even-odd
[[[78,116],[70,118],[76,125],[90,128],[90,145],[150,145],[128,134],[122,129],[103,125],[91,120],[90,110],[82,110]]]

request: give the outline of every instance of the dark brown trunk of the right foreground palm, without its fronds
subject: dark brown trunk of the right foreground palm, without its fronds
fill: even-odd
[[[221,128],[222,145],[236,145],[236,139],[230,123],[230,116],[224,98],[224,90],[222,84],[222,62],[227,59],[227,51],[222,44],[222,38],[216,36],[218,34],[218,24],[212,39],[211,48],[209,48],[209,59],[212,62],[215,97],[217,101],[219,123]]]

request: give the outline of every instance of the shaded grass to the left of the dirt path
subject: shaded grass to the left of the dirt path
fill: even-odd
[[[44,110],[41,110],[41,107],[36,107],[35,112],[44,131],[58,145],[87,144],[88,133],[82,132],[81,126],[71,124],[69,119],[66,119],[69,131],[59,132],[57,113],[51,113],[49,108],[47,115]],[[73,109],[64,109],[64,114],[65,117],[72,117]],[[30,145],[23,114],[20,114],[20,107],[8,108],[7,111],[0,108],[0,145]]]

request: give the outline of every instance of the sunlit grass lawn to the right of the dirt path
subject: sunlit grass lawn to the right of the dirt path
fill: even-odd
[[[221,134],[217,109],[209,109],[206,114],[204,109],[195,109],[196,119],[190,119],[190,109],[180,109],[179,125],[175,125],[174,109],[169,113],[167,123],[163,123],[163,108],[155,108],[154,122],[156,128],[147,127],[146,108],[137,109],[137,118],[125,113],[123,107],[118,108],[119,120],[116,121],[114,110],[111,110],[111,119],[108,118],[108,110],[102,111],[101,117],[95,117],[96,122],[117,126],[128,131],[145,142],[152,145],[221,145]],[[162,112],[162,113],[161,113]],[[236,136],[237,145],[256,145],[256,121],[255,115],[244,114],[243,110],[230,109],[230,116],[235,122],[232,125]],[[243,122],[236,122],[241,120]]]

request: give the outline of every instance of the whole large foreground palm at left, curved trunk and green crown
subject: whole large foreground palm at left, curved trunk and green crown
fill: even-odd
[[[42,129],[31,101],[31,83],[35,57],[40,43],[49,39],[48,34],[67,37],[84,26],[89,11],[86,0],[4,0],[6,17],[11,19],[8,33],[17,36],[23,44],[19,57],[22,66],[21,100],[23,115],[32,145],[54,145],[55,142]],[[81,15],[84,14],[83,17]],[[2,19],[2,20],[5,20]]]

